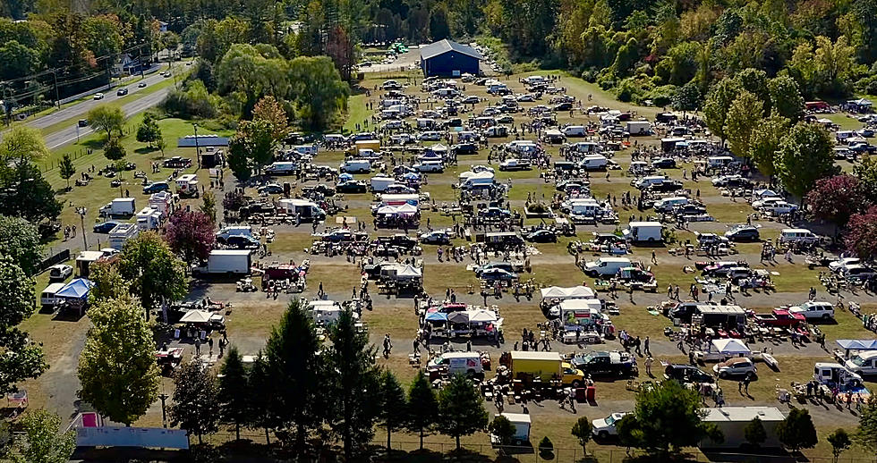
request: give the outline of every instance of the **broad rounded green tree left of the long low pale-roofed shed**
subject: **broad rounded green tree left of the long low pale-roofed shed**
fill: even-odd
[[[666,460],[683,447],[694,446],[707,437],[713,442],[724,438],[716,425],[702,422],[697,391],[687,390],[675,381],[665,381],[637,393],[633,415],[622,421],[626,422],[622,426],[624,433],[618,429],[622,443],[643,449],[658,459]]]

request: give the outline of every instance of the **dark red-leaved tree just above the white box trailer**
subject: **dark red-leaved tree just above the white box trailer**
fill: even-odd
[[[183,208],[167,219],[165,237],[171,249],[189,265],[207,259],[216,242],[209,215]]]

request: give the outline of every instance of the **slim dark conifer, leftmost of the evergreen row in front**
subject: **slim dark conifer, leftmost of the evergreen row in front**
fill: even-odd
[[[237,440],[241,439],[241,425],[246,425],[250,419],[251,389],[250,379],[247,377],[247,369],[243,366],[243,358],[237,348],[232,346],[228,349],[226,360],[219,371],[219,414],[223,423],[234,425],[234,435]]]

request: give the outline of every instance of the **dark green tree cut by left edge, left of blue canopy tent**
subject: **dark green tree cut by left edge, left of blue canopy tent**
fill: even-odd
[[[36,378],[46,371],[43,351],[17,328],[36,307],[34,281],[15,265],[13,258],[0,254],[0,394],[17,391],[17,383]]]

